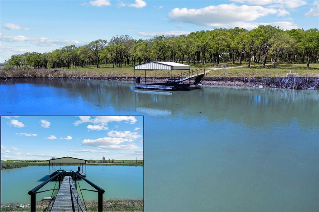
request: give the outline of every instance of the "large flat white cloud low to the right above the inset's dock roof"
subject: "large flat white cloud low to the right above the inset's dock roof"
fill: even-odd
[[[123,142],[129,142],[130,139],[127,138],[98,138],[98,139],[84,139],[82,141],[83,145],[100,147],[102,149],[112,149],[112,150],[123,150],[123,149],[138,149],[134,144],[129,145],[119,145]]]

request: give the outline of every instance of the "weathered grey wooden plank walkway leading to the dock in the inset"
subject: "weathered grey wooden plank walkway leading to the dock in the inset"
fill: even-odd
[[[77,196],[77,194],[72,178],[64,177],[51,211],[85,211],[80,196],[79,194]]]

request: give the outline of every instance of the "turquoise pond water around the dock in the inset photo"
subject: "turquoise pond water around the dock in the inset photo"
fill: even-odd
[[[77,166],[61,166],[64,170],[78,170]],[[86,178],[105,190],[104,200],[143,199],[143,167],[141,166],[86,166]],[[1,170],[1,204],[30,204],[28,192],[49,178],[49,166],[28,166]],[[80,187],[95,190],[84,180]],[[56,188],[58,188],[58,183]],[[53,189],[55,182],[48,182],[39,191]],[[36,200],[50,197],[52,191],[36,194]],[[85,201],[97,201],[98,194],[82,191]]]

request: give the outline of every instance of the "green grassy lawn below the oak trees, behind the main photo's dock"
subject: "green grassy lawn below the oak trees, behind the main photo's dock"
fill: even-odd
[[[184,63],[187,64],[187,63]],[[222,64],[222,63],[221,63]],[[211,63],[190,64],[191,69],[197,68],[205,68],[208,70]],[[243,67],[238,67],[243,66]],[[310,68],[307,69],[307,64],[299,64],[299,63],[278,63],[276,68],[272,68],[272,64],[268,62],[266,64],[266,68],[262,68],[261,63],[251,63],[251,67],[248,68],[248,62],[243,61],[242,65],[239,62],[235,64],[228,62],[226,63],[226,67],[237,67],[237,68],[229,68],[222,69],[219,68],[217,70],[210,71],[206,77],[275,77],[275,76],[286,76],[289,73],[289,70],[292,70],[293,73],[298,73],[299,76],[319,76],[319,64],[310,64]],[[86,66],[86,67],[77,67],[64,69],[64,71],[72,71],[72,72],[80,72],[80,73],[96,73],[98,76],[105,77],[134,77],[134,68],[131,65],[126,65],[122,67],[112,67],[112,64],[100,65],[100,68],[96,68],[95,66]],[[179,71],[173,71],[174,74],[180,73]],[[171,75],[170,71],[156,71],[157,77],[169,77]],[[136,71],[136,76],[145,76],[144,70]],[[147,77],[154,77],[154,71],[146,71]]]

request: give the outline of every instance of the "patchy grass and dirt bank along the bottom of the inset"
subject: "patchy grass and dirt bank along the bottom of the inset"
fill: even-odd
[[[98,202],[85,202],[87,211],[98,211]],[[84,205],[84,203],[83,203]],[[48,207],[48,201],[36,203],[36,211]],[[103,200],[103,211],[143,211],[144,200]],[[30,211],[30,204],[1,204],[1,211]]]

